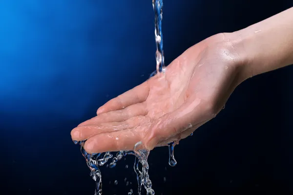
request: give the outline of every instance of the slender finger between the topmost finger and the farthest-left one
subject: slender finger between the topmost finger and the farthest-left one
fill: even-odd
[[[146,116],[146,114],[146,105],[144,103],[137,103],[121,110],[102,113],[96,117],[82,122],[78,125],[78,127],[83,125],[98,124],[101,122],[122,122],[131,117]]]

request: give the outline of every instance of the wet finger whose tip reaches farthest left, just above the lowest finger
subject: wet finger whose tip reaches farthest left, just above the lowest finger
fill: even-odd
[[[134,128],[145,120],[146,117],[144,116],[136,116],[123,122],[102,122],[98,124],[78,126],[71,131],[71,137],[75,141],[87,140],[98,134]]]

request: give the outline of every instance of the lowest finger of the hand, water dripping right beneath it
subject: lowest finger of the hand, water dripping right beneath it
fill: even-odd
[[[84,143],[84,150],[89,154],[105,151],[133,150],[135,144],[140,140],[140,134],[135,133],[131,129],[127,129],[91,137]]]

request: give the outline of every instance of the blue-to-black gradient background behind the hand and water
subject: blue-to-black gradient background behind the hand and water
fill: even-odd
[[[292,5],[165,0],[166,64],[202,39]],[[155,69],[153,20],[151,0],[0,1],[1,195],[93,195],[70,131]],[[292,74],[286,67],[241,84],[218,117],[175,147],[176,167],[167,148],[152,151],[156,194],[292,194]],[[105,195],[125,195],[125,177],[136,192],[134,158],[126,158],[102,168]]]

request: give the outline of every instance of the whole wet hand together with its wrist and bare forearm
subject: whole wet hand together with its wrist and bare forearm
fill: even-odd
[[[246,78],[293,63],[293,8],[192,46],[143,84],[111,99],[73,129],[88,153],[151,150],[188,137],[215,117]]]

